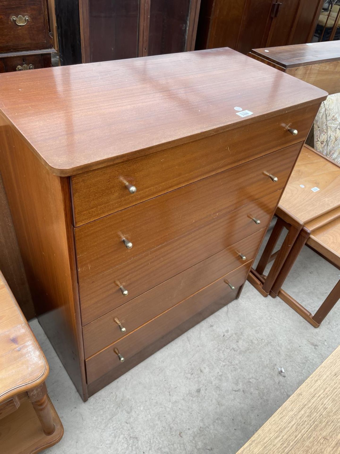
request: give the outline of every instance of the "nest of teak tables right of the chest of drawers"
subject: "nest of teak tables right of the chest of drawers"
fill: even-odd
[[[277,207],[277,222],[256,269],[252,269],[248,276],[248,281],[263,296],[279,296],[314,327],[320,326],[338,301],[340,282],[315,315],[281,287],[305,244],[340,268],[339,194],[340,166],[305,145]],[[288,234],[281,248],[273,253],[283,228],[288,230]],[[264,276],[265,268],[272,260],[272,267]]]

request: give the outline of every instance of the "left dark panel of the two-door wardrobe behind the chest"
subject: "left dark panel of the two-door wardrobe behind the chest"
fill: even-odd
[[[140,0],[89,0],[91,61],[138,56]]]

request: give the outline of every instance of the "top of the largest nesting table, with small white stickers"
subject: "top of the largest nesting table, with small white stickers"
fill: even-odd
[[[312,188],[320,190],[313,192]],[[280,206],[306,224],[340,206],[339,190],[339,166],[305,146],[283,192]]]

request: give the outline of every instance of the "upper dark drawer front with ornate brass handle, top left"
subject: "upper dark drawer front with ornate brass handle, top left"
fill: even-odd
[[[11,17],[25,25],[17,25]],[[27,16],[29,19],[24,19]],[[1,0],[0,2],[0,50],[16,51],[37,48],[34,44],[50,40],[48,36],[47,8],[45,0]],[[47,36],[46,36],[47,35]],[[46,46],[43,46],[44,49]],[[39,47],[38,47],[39,49]]]

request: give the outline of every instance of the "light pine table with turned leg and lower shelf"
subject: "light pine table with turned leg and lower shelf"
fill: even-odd
[[[36,453],[62,438],[44,383],[48,375],[44,353],[0,272],[1,453]]]

